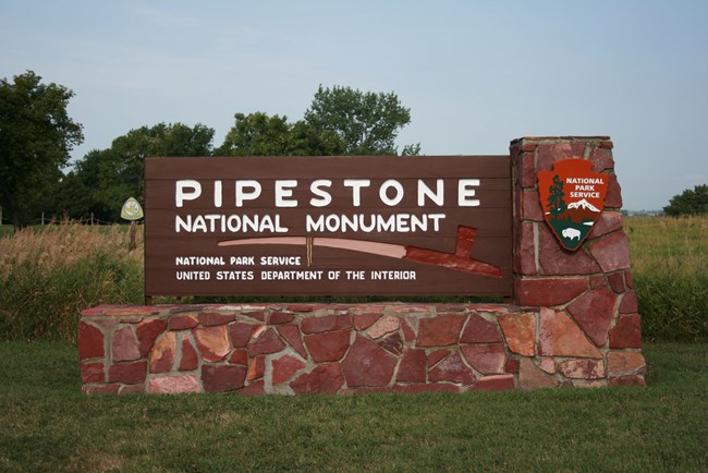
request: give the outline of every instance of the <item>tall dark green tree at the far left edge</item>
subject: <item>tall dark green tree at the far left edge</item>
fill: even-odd
[[[0,206],[15,228],[28,222],[28,209],[50,194],[69,153],[80,145],[82,125],[66,113],[74,93],[42,84],[32,71],[0,80]]]

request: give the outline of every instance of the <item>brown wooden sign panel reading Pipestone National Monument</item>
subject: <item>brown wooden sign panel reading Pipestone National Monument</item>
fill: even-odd
[[[511,295],[509,156],[147,158],[145,293]]]

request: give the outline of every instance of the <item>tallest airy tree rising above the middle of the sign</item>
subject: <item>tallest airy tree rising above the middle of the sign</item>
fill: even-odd
[[[320,85],[305,111],[305,122],[317,132],[335,133],[344,142],[346,155],[396,155],[394,142],[411,122],[411,109],[403,107],[394,93]],[[406,153],[419,153],[419,145],[406,146]]]

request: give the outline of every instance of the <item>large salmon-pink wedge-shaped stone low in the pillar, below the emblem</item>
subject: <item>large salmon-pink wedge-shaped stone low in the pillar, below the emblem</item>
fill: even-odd
[[[541,307],[538,353],[547,356],[602,357],[600,351],[564,312],[548,307]]]

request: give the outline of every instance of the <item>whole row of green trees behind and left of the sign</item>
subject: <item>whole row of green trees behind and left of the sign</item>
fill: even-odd
[[[210,126],[158,123],[130,130],[70,166],[70,151],[84,140],[83,125],[66,113],[73,96],[32,71],[0,81],[0,207],[16,228],[42,213],[119,221],[127,197],[143,202],[148,156],[398,155],[395,138],[411,122],[394,93],[320,85],[302,120],[239,112],[218,147]],[[400,154],[419,151],[414,144]]]

